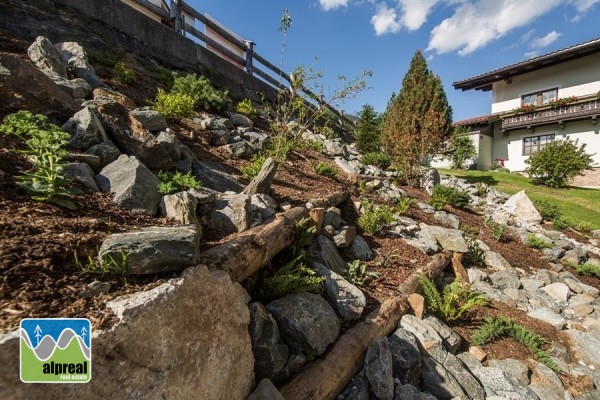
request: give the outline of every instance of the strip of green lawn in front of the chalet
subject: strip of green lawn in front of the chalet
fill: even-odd
[[[546,200],[556,205],[561,214],[574,222],[589,222],[592,229],[600,229],[600,190],[570,186],[565,189],[553,189],[532,183],[523,175],[498,171],[463,171],[440,169],[440,173],[454,175],[467,182],[483,182],[508,194],[521,190],[531,200]]]

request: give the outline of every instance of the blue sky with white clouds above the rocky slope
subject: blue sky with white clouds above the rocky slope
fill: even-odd
[[[311,65],[326,88],[337,77],[373,72],[372,89],[341,107],[383,111],[400,91],[416,50],[440,76],[454,120],[488,114],[490,92],[456,91],[452,83],[600,36],[600,0],[188,0],[279,66],[284,8],[284,70]]]

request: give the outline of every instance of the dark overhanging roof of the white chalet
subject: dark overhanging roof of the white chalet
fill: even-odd
[[[462,81],[454,82],[454,89],[492,90],[492,83],[510,79],[513,76],[522,75],[527,72],[536,71],[566,61],[585,57],[590,54],[600,53],[600,38],[579,43],[552,53],[530,58],[525,61],[511,64],[506,67],[495,69],[485,74],[477,75]]]

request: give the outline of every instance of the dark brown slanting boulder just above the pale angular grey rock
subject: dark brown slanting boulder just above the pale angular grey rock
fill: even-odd
[[[169,153],[124,106],[117,103],[100,104],[98,112],[113,142],[122,152],[136,156],[148,168],[173,167]]]

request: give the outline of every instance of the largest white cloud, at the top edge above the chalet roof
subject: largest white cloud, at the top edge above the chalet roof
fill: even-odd
[[[454,14],[431,31],[428,51],[467,55],[526,26],[562,3],[561,0],[478,0],[462,2]]]

